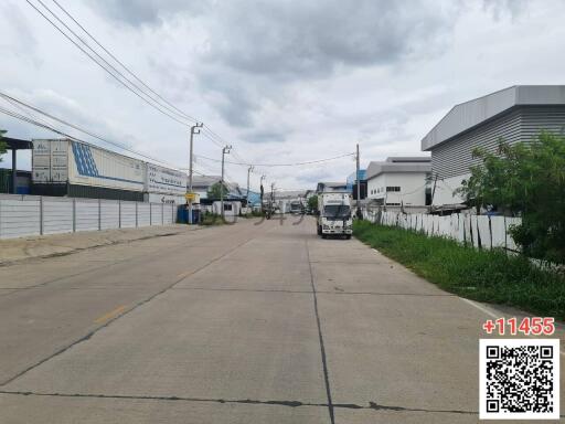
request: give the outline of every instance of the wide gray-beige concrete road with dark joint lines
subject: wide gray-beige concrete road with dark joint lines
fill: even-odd
[[[0,267],[0,423],[478,422],[489,310],[296,221]]]

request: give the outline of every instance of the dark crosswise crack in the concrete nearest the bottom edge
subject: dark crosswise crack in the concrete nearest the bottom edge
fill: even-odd
[[[94,394],[94,393],[41,393],[28,391],[7,391],[0,390],[0,394],[11,394],[20,396],[43,396],[43,398],[84,398],[84,399],[109,399],[109,400],[140,400],[140,401],[178,401],[178,402],[207,402],[207,403],[227,403],[227,404],[248,404],[248,405],[276,405],[288,407],[328,407],[328,403],[313,403],[301,401],[277,401],[277,400],[253,400],[253,399],[214,399],[214,398],[192,398],[192,396],[158,396],[158,395],[129,395],[129,394]],[[433,410],[419,407],[405,407],[393,405],[380,405],[375,402],[369,402],[369,405],[359,405],[355,403],[332,403],[333,409],[340,410],[372,410],[372,411],[392,411],[392,412],[425,412],[439,414],[465,414],[478,415],[477,411],[466,410]]]

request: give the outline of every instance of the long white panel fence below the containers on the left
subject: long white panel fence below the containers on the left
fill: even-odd
[[[170,203],[39,195],[0,197],[0,239],[167,225],[175,221],[177,206]]]

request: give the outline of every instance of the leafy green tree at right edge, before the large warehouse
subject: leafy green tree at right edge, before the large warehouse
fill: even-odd
[[[510,229],[524,254],[565,263],[565,137],[542,132],[536,140],[497,152],[476,149],[481,163],[456,192],[478,210],[493,205],[522,218]]]

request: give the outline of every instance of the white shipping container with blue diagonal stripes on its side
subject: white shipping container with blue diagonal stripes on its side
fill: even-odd
[[[97,187],[142,192],[145,162],[68,139],[33,140],[34,183]]]

